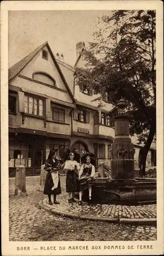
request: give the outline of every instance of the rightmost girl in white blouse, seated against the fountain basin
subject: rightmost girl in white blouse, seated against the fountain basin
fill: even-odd
[[[95,166],[91,164],[91,157],[86,157],[86,163],[81,165],[78,177],[79,177],[79,202],[82,204],[82,195],[85,189],[89,190],[89,201],[92,200],[92,185],[89,182],[95,175]]]

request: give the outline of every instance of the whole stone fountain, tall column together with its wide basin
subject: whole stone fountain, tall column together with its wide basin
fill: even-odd
[[[155,203],[156,179],[134,179],[135,148],[129,136],[131,116],[125,111],[124,99],[117,104],[114,116],[115,137],[112,144],[112,179],[96,178],[92,182],[92,198],[99,203]]]

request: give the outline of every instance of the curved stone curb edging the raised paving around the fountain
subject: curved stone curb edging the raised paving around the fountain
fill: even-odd
[[[120,223],[120,224],[129,224],[129,225],[157,225],[156,219],[119,219],[119,218],[99,218],[94,216],[80,216],[78,214],[71,214],[66,213],[64,211],[59,211],[55,209],[51,209],[48,205],[45,205],[43,203],[43,200],[39,201],[39,206],[42,207],[45,210],[50,211],[52,214],[55,215],[62,215],[64,217],[68,218],[74,218],[74,219],[81,219],[81,220],[91,220],[91,221],[106,221],[110,223]]]

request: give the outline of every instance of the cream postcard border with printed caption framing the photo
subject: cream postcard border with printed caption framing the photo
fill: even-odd
[[[2,186],[2,255],[152,255],[163,254],[163,12],[161,1],[4,1],[1,2],[1,186]],[[157,70],[157,241],[124,242],[9,242],[9,177],[8,177],[8,11],[16,10],[156,10]],[[89,250],[59,250],[59,246],[89,247]],[[91,250],[92,245],[124,245],[124,250]],[[127,246],[133,249],[127,249]],[[138,249],[152,245],[153,249]],[[30,246],[30,251],[17,251],[17,246]],[[40,246],[56,246],[54,251],[41,251]],[[34,250],[33,248],[38,248]]]

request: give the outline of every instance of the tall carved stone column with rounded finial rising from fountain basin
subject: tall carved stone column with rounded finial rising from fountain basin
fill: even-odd
[[[127,103],[120,99],[117,104],[115,120],[115,137],[112,144],[112,179],[134,181],[135,149],[129,136],[129,120],[131,116],[125,112]]]

